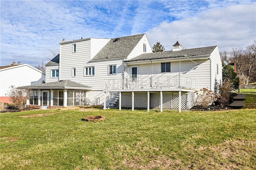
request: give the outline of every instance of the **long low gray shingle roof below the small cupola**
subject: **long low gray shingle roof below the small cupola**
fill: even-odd
[[[184,55],[194,55],[194,56],[210,55],[216,47],[217,46],[182,49],[180,51],[163,51],[163,52],[155,52],[155,53],[144,53],[128,61],[164,59],[164,58],[172,58],[172,57],[174,58],[174,57],[184,56]]]

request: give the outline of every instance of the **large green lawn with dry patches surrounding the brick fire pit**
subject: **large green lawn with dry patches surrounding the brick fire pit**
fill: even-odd
[[[256,169],[255,112],[1,113],[0,169]]]

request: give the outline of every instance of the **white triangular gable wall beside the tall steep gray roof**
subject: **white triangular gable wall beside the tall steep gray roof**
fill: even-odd
[[[146,52],[143,51],[143,44],[146,45]],[[144,53],[152,53],[152,49],[150,47],[146,34],[142,37],[140,42],[138,42],[132,52],[128,55],[127,59],[132,59]]]

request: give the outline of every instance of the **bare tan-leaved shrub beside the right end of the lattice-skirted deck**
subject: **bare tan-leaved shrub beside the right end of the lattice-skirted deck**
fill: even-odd
[[[217,100],[218,95],[216,95],[212,90],[206,88],[195,91],[196,95],[196,105],[201,107],[208,107],[212,102]]]

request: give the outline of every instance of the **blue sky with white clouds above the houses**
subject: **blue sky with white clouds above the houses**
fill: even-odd
[[[218,45],[220,51],[256,40],[255,0],[0,1],[0,65],[46,64],[59,43],[146,33],[167,51]]]

